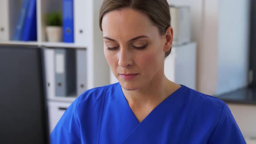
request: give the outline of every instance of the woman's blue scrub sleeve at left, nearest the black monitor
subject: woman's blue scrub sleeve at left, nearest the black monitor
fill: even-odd
[[[80,124],[76,116],[79,98],[66,109],[50,134],[51,144],[80,144]]]

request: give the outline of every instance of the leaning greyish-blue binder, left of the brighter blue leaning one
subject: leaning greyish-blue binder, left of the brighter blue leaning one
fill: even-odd
[[[29,0],[23,0],[21,10],[20,10],[19,19],[18,19],[16,29],[14,32],[13,40],[21,40],[21,33],[22,33],[23,25],[24,25],[24,20],[25,20],[25,16],[26,16],[26,10],[28,7],[28,3],[29,3]]]

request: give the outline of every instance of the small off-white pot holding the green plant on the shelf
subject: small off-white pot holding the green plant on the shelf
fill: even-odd
[[[48,42],[62,42],[62,27],[46,26],[46,36]]]

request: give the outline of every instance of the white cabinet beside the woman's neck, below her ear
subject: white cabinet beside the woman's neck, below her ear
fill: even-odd
[[[165,59],[164,74],[181,85],[196,89],[196,43],[173,46],[171,55]]]

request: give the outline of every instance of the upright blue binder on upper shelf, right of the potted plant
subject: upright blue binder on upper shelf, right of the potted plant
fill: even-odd
[[[62,1],[63,42],[74,43],[73,0]]]

